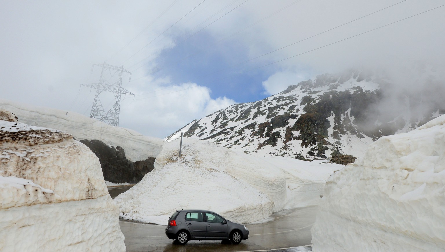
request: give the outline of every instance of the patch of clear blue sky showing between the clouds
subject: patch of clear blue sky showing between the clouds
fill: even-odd
[[[179,42],[182,40],[178,38]],[[248,48],[243,43],[234,42],[216,43],[209,33],[199,32],[163,51],[157,59],[160,71],[154,75],[158,78],[169,76],[176,84],[192,82],[209,87],[212,98],[226,96],[236,102],[266,98],[262,82],[276,69],[272,66],[248,71],[264,63],[255,60],[236,65],[249,58]]]

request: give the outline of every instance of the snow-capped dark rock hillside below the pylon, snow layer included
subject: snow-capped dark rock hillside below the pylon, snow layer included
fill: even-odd
[[[164,144],[160,138],[109,126],[71,111],[28,106],[3,99],[0,99],[0,108],[12,111],[21,122],[63,130],[81,140],[99,158],[105,180],[113,183],[140,181],[153,169],[154,158]]]

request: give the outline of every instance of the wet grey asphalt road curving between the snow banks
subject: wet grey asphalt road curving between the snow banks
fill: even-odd
[[[126,189],[109,189],[110,195]],[[117,194],[116,194],[117,193]],[[311,228],[315,222],[316,206],[286,209],[274,213],[269,222],[247,224],[249,239],[240,244],[222,243],[221,241],[189,241],[185,246],[175,244],[165,235],[166,226],[120,221],[121,231],[125,236],[127,252],[210,252],[210,251],[286,251],[280,248],[299,247],[311,244]]]

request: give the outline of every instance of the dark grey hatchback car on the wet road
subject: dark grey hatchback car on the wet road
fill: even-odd
[[[177,210],[169,218],[166,235],[179,244],[189,240],[230,240],[239,244],[249,238],[249,230],[243,224],[231,222],[217,213],[207,210]]]

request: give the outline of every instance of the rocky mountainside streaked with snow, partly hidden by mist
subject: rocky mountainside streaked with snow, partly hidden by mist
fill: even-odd
[[[413,104],[407,100],[405,112],[384,117],[376,110],[384,98],[382,85],[388,85],[387,77],[366,71],[319,75],[261,101],[235,104],[190,122],[166,141],[184,133],[260,156],[320,159],[338,146],[343,154],[362,157],[382,135],[407,132],[439,113],[435,108],[415,117],[410,110],[422,103],[413,102],[414,97]]]

